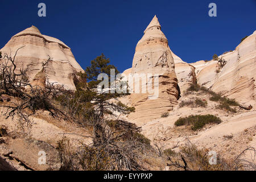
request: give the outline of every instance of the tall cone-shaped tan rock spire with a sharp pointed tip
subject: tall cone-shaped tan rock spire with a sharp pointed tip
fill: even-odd
[[[133,93],[131,94],[131,104],[135,107],[136,112],[129,115],[131,121],[147,122],[151,119],[159,118],[161,114],[172,110],[179,98],[179,88],[175,74],[174,58],[168,46],[168,40],[161,31],[158,18],[154,16],[151,23],[144,31],[144,35],[139,40],[135,49],[133,67],[125,71],[125,75],[135,74],[152,74],[152,85],[154,85],[154,75],[159,75],[159,96],[151,100],[155,94],[150,93]],[[141,85],[140,88],[148,85]],[[141,81],[142,82],[142,81]],[[134,80],[134,84],[138,81]],[[152,86],[154,88],[154,86]]]

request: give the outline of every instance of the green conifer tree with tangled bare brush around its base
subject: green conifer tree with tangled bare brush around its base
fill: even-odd
[[[109,79],[111,69],[115,70],[115,76],[119,73],[117,68],[109,63],[109,59],[103,54],[92,60],[90,67],[79,74],[81,78],[86,78],[87,82],[78,82],[76,92],[61,103],[71,107],[70,113],[76,113],[73,115],[76,121],[92,131],[93,144],[86,145],[85,151],[80,152],[84,169],[88,169],[86,165],[89,165],[88,161],[92,161],[91,158],[88,159],[90,152],[97,156],[97,164],[105,164],[105,159],[109,160],[109,165],[104,165],[108,167],[101,169],[142,169],[139,164],[142,160],[139,154],[143,150],[149,150],[150,142],[139,134],[140,127],[119,119],[119,115],[129,114],[135,110],[134,107],[128,107],[118,101],[119,97],[127,94],[97,91],[100,83],[97,77],[100,73],[106,73]],[[89,169],[99,169],[96,166],[92,168],[91,163],[89,166]]]

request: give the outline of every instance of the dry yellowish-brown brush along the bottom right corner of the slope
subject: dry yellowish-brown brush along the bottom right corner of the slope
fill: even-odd
[[[249,160],[243,159],[245,152],[251,152],[255,156],[254,147],[243,150],[233,159],[224,159],[221,154],[216,154],[216,164],[210,164],[210,152],[206,148],[197,148],[197,146],[187,140],[187,143],[180,148],[179,155],[168,158],[167,166],[173,167],[174,170],[185,171],[238,171],[251,170],[255,171],[256,164]]]

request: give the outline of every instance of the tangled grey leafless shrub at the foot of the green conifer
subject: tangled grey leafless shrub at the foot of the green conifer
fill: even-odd
[[[140,128],[121,120],[113,122],[114,127],[94,116],[88,123],[88,126],[93,127],[92,151],[104,151],[104,156],[111,161],[111,170],[142,170],[142,154],[151,147],[147,142],[142,143],[145,140],[141,135],[136,135]]]

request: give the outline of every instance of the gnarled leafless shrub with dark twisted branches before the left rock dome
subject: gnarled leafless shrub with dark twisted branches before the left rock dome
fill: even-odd
[[[54,86],[53,83],[49,83],[46,80],[44,87],[38,85],[31,85],[27,68],[20,68],[16,70],[15,58],[20,47],[15,52],[14,57],[11,55],[3,56],[2,63],[0,65],[0,96],[3,94],[9,97],[15,97],[15,101],[9,102],[9,104],[2,104],[0,107],[5,107],[6,111],[4,115],[6,118],[18,117],[18,126],[23,131],[25,127],[31,126],[30,116],[35,114],[37,110],[44,109],[51,113],[53,117],[63,116],[63,111],[57,109],[52,102],[52,98],[63,92],[63,87]],[[51,57],[44,63],[42,63],[42,72],[45,72],[47,65],[52,61]],[[18,99],[16,99],[18,98]]]

